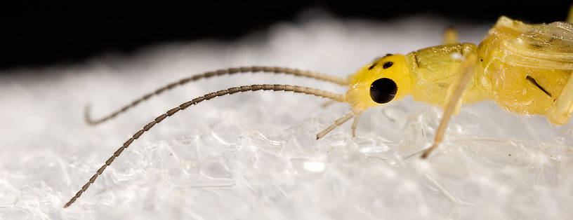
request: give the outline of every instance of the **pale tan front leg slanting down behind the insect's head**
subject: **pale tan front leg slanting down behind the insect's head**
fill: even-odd
[[[426,149],[422,153],[422,158],[427,158],[430,152],[436,149],[437,145],[439,145],[442,140],[444,139],[444,135],[446,132],[447,125],[449,123],[449,119],[452,118],[452,115],[456,111],[456,107],[459,106],[459,102],[463,97],[463,92],[466,91],[466,88],[471,82],[473,75],[475,73],[475,65],[477,64],[477,56],[475,54],[470,54],[466,57],[461,63],[461,66],[457,70],[456,74],[461,74],[459,81],[456,84],[452,84],[451,86],[456,86],[454,93],[449,98],[447,105],[444,109],[444,114],[442,115],[442,121],[440,121],[440,125],[437,126],[436,135],[434,137],[434,143],[430,148]]]

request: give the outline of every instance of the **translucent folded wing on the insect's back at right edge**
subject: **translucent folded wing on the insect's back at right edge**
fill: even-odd
[[[498,25],[511,25],[518,31],[516,37],[506,39],[501,45],[505,62],[521,67],[573,69],[573,25],[565,22],[526,25],[502,20]]]

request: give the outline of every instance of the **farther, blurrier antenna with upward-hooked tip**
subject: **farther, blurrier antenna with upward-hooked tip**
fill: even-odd
[[[340,77],[336,77],[336,76],[329,76],[327,74],[320,74],[320,73],[315,73],[312,71],[306,71],[306,70],[300,70],[300,69],[291,69],[291,68],[284,68],[284,67],[258,67],[258,66],[253,66],[253,67],[238,67],[238,68],[229,68],[229,69],[218,69],[216,71],[208,71],[205,72],[204,74],[197,74],[194,76],[190,76],[187,78],[182,78],[179,81],[173,82],[173,83],[169,83],[165,86],[163,86],[162,88],[158,88],[157,90],[155,90],[154,92],[150,92],[147,93],[146,95],[143,95],[143,97],[140,97],[138,99],[133,100],[133,102],[131,102],[130,104],[127,104],[126,106],[123,106],[121,109],[112,112],[112,114],[105,116],[103,118],[97,119],[97,120],[93,120],[90,116],[90,110],[91,110],[91,106],[87,105],[86,109],[84,109],[84,119],[86,120],[86,123],[88,123],[89,125],[97,125],[99,123],[103,123],[104,121],[110,120],[111,118],[114,118],[115,116],[124,113],[125,111],[127,111],[128,109],[131,109],[133,106],[138,105],[140,102],[143,102],[147,99],[149,99],[150,97],[154,96],[154,95],[159,95],[162,92],[166,91],[166,90],[170,90],[171,88],[174,88],[178,85],[183,85],[185,83],[189,83],[191,81],[197,81],[201,78],[210,78],[213,76],[222,76],[222,75],[230,75],[230,74],[237,74],[237,73],[256,73],[256,72],[269,72],[269,73],[274,73],[274,74],[287,74],[287,75],[294,75],[294,76],[302,76],[302,77],[308,77],[308,78],[315,78],[317,80],[321,80],[321,81],[328,81],[331,83],[336,83],[338,85],[348,85],[348,82],[346,81],[345,78],[340,78]]]

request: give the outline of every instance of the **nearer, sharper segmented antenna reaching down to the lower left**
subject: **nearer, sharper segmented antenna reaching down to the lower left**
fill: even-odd
[[[143,128],[141,130],[139,130],[138,132],[133,134],[132,137],[130,137],[126,142],[124,142],[124,144],[121,147],[119,147],[119,149],[117,149],[117,151],[115,151],[109,159],[107,159],[105,161],[105,164],[102,165],[100,167],[100,169],[98,169],[98,171],[95,172],[95,174],[93,174],[93,176],[88,180],[88,182],[86,184],[84,184],[84,186],[82,186],[79,189],[79,191],[76,193],[76,195],[74,195],[74,197],[72,197],[70,199],[70,201],[64,205],[64,207],[69,207],[70,205],[72,205],[72,203],[74,203],[74,201],[77,200],[77,198],[79,198],[81,193],[84,193],[84,191],[86,191],[86,189],[88,189],[88,187],[91,184],[93,184],[93,181],[95,181],[95,179],[97,179],[98,176],[100,174],[102,174],[102,172],[105,170],[105,168],[107,166],[111,165],[112,162],[115,160],[115,158],[117,158],[121,154],[121,152],[124,151],[133,141],[138,139],[141,135],[143,135],[143,133],[145,133],[147,130],[150,130],[157,123],[162,122],[165,118],[172,116],[173,114],[176,114],[180,110],[186,109],[188,106],[191,106],[193,104],[197,104],[199,102],[203,102],[205,100],[212,99],[214,97],[220,97],[223,95],[230,95],[230,94],[237,93],[237,92],[247,92],[247,91],[256,91],[256,90],[290,91],[290,92],[296,92],[296,93],[304,93],[304,94],[308,94],[308,95],[315,95],[317,97],[324,97],[327,99],[334,100],[336,102],[345,102],[345,95],[334,93],[334,92],[329,92],[329,91],[325,91],[325,90],[318,90],[315,88],[301,87],[301,86],[296,86],[296,85],[269,85],[269,84],[244,85],[241,87],[233,87],[233,88],[229,88],[226,90],[219,90],[217,92],[211,92],[211,93],[208,93],[206,95],[203,95],[202,97],[197,97],[195,99],[192,99],[191,101],[187,101],[183,104],[180,104],[179,106],[176,106],[175,108],[167,111],[166,113],[162,114],[161,116],[158,116],[152,122],[143,126]]]

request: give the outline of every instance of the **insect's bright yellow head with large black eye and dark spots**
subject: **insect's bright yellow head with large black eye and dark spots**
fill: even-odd
[[[411,92],[410,71],[404,55],[386,55],[348,76],[346,100],[353,111],[402,99]]]

